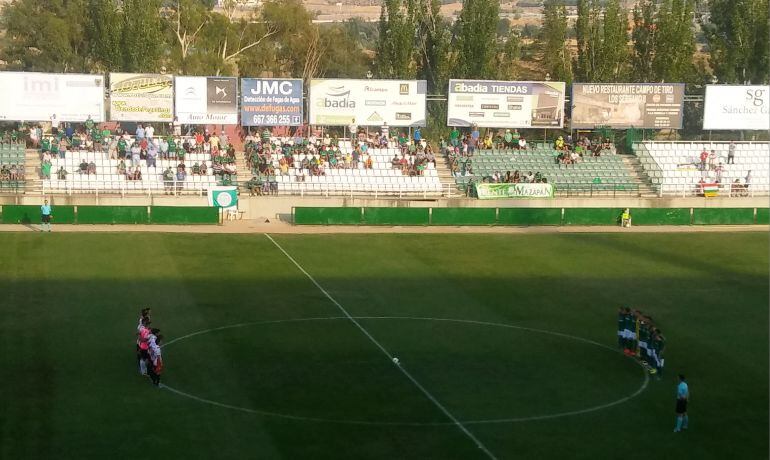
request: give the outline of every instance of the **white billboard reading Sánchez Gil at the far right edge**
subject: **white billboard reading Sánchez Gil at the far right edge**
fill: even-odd
[[[707,85],[703,129],[770,129],[770,86]]]

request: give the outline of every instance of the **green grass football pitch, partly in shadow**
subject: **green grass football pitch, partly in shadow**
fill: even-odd
[[[766,234],[274,238],[498,458],[767,458]],[[265,235],[0,248],[0,458],[486,458]],[[198,399],[138,375],[145,305],[167,341],[208,330],[164,351]],[[668,339],[627,400],[620,305]]]

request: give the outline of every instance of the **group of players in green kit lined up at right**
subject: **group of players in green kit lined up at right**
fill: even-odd
[[[618,347],[628,356],[637,357],[650,374],[663,373],[666,338],[655,327],[652,317],[639,310],[622,307],[618,310]]]

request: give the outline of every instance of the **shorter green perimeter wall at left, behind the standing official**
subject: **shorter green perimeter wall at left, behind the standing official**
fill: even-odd
[[[219,208],[195,206],[51,206],[56,224],[218,224]],[[3,205],[2,223],[39,224],[40,206]]]

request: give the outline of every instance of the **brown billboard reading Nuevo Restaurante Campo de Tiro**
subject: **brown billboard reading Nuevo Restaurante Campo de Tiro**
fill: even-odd
[[[575,83],[572,128],[681,129],[684,83]]]

